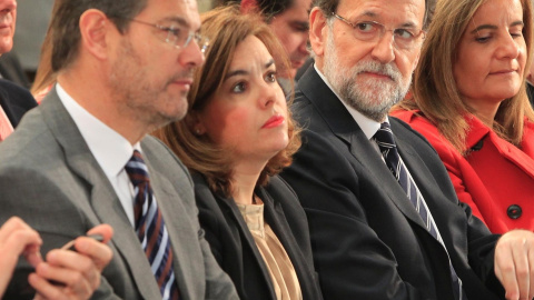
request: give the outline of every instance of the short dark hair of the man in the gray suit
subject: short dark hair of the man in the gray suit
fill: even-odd
[[[123,33],[129,24],[128,18],[141,12],[148,0],[57,0],[56,13],[50,22],[52,33],[52,70],[55,72],[68,67],[78,56],[80,17],[89,9],[98,9],[112,20],[117,29]],[[115,17],[115,18],[113,18]],[[117,18],[121,17],[121,18]]]

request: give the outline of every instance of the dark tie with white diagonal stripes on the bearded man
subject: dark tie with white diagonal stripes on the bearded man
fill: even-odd
[[[437,231],[437,227],[434,223],[434,219],[432,218],[432,214],[428,211],[428,208],[426,207],[423,194],[421,194],[419,189],[417,189],[417,186],[415,184],[414,179],[409,174],[408,169],[406,168],[406,166],[404,164],[404,161],[400,159],[400,156],[398,154],[397,146],[395,143],[395,138],[393,136],[392,128],[389,127],[388,122],[384,122],[380,124],[380,129],[378,129],[378,131],[375,133],[374,140],[376,141],[376,143],[378,144],[378,148],[380,149],[382,156],[386,161],[386,166],[389,168],[393,176],[395,176],[398,183],[408,196],[409,201],[412,201],[412,204],[414,204],[415,209],[417,210],[421,218],[423,219],[423,222],[426,224],[426,229],[445,248],[445,244],[443,243],[443,240],[442,240],[442,236],[439,236],[439,232]],[[445,251],[446,251],[446,248],[445,248]],[[458,276],[456,274],[456,271],[453,268],[453,264],[451,264],[451,259],[449,259],[449,267],[451,267],[451,279],[453,280],[454,296],[458,300],[466,300],[467,298],[465,297],[465,293],[462,289],[462,280],[459,280]]]

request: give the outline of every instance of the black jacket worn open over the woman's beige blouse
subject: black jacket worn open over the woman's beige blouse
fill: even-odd
[[[268,269],[233,199],[214,194],[200,174],[192,176],[200,226],[215,258],[234,281],[241,300],[276,300]],[[257,188],[265,221],[295,267],[304,299],[322,299],[314,271],[306,214],[295,192],[278,177]]]

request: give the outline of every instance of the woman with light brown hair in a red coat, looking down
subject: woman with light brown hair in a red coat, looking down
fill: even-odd
[[[439,153],[458,199],[496,233],[534,230],[531,0],[438,0],[413,99],[393,116]]]

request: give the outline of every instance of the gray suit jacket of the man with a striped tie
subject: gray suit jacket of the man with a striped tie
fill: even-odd
[[[237,299],[198,223],[188,171],[157,139],[145,138],[141,148],[168,227],[180,299]],[[56,90],[0,144],[0,223],[21,217],[41,234],[43,254],[96,224],[109,223],[115,230],[113,259],[93,299],[161,299],[111,183]],[[26,261],[19,261],[6,298],[31,298],[30,271]]]

